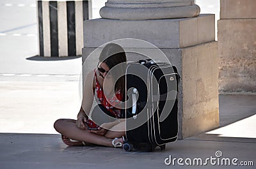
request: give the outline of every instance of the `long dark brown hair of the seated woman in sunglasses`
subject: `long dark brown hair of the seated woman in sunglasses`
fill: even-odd
[[[124,48],[122,48],[120,45],[117,45],[115,43],[108,43],[106,45],[99,56],[99,62],[104,62],[109,67],[109,70],[116,66],[117,64],[120,64],[122,62],[127,62],[127,58],[124,52]],[[126,65],[126,64],[124,64]],[[111,71],[111,75],[113,77],[113,80],[116,80],[117,75],[125,75],[126,66],[118,67],[118,72]],[[125,76],[122,76],[118,78],[115,84],[115,92],[120,90],[121,94],[124,94],[125,89]]]

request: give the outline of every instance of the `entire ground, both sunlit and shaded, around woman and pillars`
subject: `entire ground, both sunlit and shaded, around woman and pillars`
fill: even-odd
[[[95,2],[94,9],[98,9],[96,4],[102,2]],[[218,11],[215,2],[198,1],[205,12]],[[76,118],[81,100],[81,57],[36,56],[35,1],[1,0],[0,14],[1,169],[255,168],[255,95],[220,95],[220,128],[168,143],[164,151],[67,147],[54,131],[53,122]],[[198,158],[202,166],[198,166]],[[230,165],[225,160],[230,160]]]

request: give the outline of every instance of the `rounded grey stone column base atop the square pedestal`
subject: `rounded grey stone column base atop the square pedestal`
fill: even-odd
[[[100,9],[102,18],[120,20],[188,18],[199,13],[194,0],[108,0]]]

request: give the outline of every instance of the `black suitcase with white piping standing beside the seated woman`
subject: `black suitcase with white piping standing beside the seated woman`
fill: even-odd
[[[154,151],[178,136],[179,74],[168,63],[130,62],[125,75],[126,139],[123,149]]]

